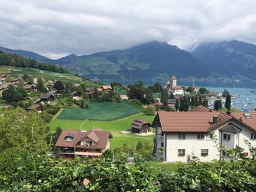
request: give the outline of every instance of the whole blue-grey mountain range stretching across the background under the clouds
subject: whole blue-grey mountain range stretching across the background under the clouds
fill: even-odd
[[[125,50],[72,54],[56,60],[24,50],[0,47],[0,51],[58,64],[90,79],[164,81],[176,74],[179,78],[256,80],[256,45],[236,40],[202,44],[191,53],[166,42],[153,41]]]

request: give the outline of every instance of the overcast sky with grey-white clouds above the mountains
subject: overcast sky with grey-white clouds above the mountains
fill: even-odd
[[[158,40],[256,43],[255,0],[0,0],[0,46],[49,58]]]

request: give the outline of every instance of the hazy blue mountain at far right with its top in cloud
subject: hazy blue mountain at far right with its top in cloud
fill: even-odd
[[[219,74],[239,74],[256,80],[256,45],[236,40],[199,45],[192,54]]]

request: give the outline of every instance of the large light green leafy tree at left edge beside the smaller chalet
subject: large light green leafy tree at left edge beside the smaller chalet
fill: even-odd
[[[20,108],[0,110],[0,151],[37,151],[46,149],[47,129],[39,115]]]

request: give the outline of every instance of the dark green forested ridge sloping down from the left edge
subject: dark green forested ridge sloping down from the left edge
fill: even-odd
[[[23,56],[4,53],[0,51],[0,66],[18,66],[18,67],[31,67],[35,69],[48,70],[49,72],[69,73],[61,66],[52,64],[43,64],[34,59],[24,58]]]

